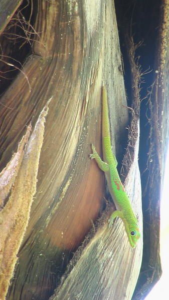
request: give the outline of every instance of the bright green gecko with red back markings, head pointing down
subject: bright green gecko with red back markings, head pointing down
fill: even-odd
[[[113,224],[116,217],[122,219],[125,231],[128,236],[129,243],[132,248],[135,248],[137,240],[140,238],[140,232],[137,225],[137,219],[131,207],[130,200],[124,190],[120,177],[117,172],[117,160],[111,150],[108,104],[106,89],[102,87],[102,148],[103,158],[97,154],[95,147],[92,146],[93,153],[90,154],[91,159],[95,159],[99,168],[105,173],[110,194],[114,200],[116,209],[110,216],[109,228]]]

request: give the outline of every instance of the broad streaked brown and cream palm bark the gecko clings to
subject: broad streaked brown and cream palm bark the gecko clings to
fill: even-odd
[[[1,162],[6,167],[25,128],[52,97],[38,169],[37,193],[7,299],[48,299],[74,251],[99,215],[104,175],[89,160],[101,153],[101,86],[107,87],[113,152],[128,122],[114,3],[37,1],[32,54],[1,98]],[[39,38],[40,36],[40,38]],[[141,189],[138,132],[125,188],[138,215]],[[133,152],[132,149],[132,152]],[[8,202],[7,202],[8,203]],[[6,207],[6,206],[5,206]],[[131,249],[120,220],[107,219],[62,278],[54,298],[130,299],[138,278],[142,238]],[[66,257],[66,259],[65,259]],[[65,292],[66,289],[66,292]]]

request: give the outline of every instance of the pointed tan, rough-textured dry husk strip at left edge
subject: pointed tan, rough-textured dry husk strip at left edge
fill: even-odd
[[[20,142],[17,153],[13,155],[11,162],[2,171],[0,178],[3,198],[13,185],[11,196],[0,212],[1,300],[6,298],[10,279],[13,276],[17,262],[17,253],[28,225],[33,196],[36,193],[39,158],[45,129],[44,123],[50,101],[51,99],[42,110],[30,138],[31,126],[27,128],[26,135]],[[27,141],[28,144],[24,149]]]

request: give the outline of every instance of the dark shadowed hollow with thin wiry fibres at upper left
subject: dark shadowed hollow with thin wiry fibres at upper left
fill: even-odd
[[[0,37],[0,95],[23,70],[23,64],[32,52],[36,2],[24,0]],[[23,71],[24,72],[24,71]]]

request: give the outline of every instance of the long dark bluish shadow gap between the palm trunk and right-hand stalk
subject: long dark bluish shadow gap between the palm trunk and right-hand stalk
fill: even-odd
[[[147,96],[147,91],[154,80],[154,67],[156,59],[156,51],[159,36],[160,25],[160,10],[161,1],[158,0],[115,0],[116,17],[119,30],[120,48],[124,63],[124,80],[127,93],[128,106],[132,104],[132,86],[131,86],[131,70],[128,60],[128,49],[126,44],[126,35],[132,36],[134,44],[142,42],[142,45],[136,50],[135,57],[139,58],[139,65],[142,72],[147,70],[147,74],[143,76],[143,83],[141,85],[140,98],[144,99]],[[133,300],[136,299],[135,295],[140,291],[141,287],[148,282],[148,277],[152,276],[152,269],[149,268],[149,248],[148,248],[148,191],[144,193],[146,183],[148,181],[149,172],[146,169],[148,159],[148,151],[150,147],[150,125],[148,123],[147,115],[150,115],[149,107],[147,104],[148,99],[144,99],[140,104],[140,145],[139,145],[139,168],[141,173],[141,186],[142,186],[142,209],[143,209],[143,259],[140,270],[140,275],[137,281]],[[153,101],[153,100],[152,100]],[[146,224],[146,225],[145,225]],[[146,228],[145,228],[146,227]],[[146,229],[146,230],[145,230]],[[149,270],[149,271],[148,271]],[[151,289],[155,284],[155,280]],[[149,291],[148,291],[149,292]],[[142,299],[146,296],[147,290],[143,294]]]

